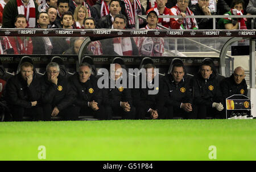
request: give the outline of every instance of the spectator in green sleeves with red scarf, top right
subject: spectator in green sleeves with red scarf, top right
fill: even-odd
[[[231,10],[224,15],[243,15],[243,6],[245,2],[243,0],[233,0]],[[221,18],[218,21],[220,29],[247,29],[245,24],[246,18]]]

